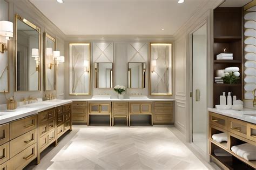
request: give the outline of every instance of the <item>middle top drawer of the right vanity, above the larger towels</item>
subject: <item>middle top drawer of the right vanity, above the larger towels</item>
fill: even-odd
[[[228,131],[243,138],[247,137],[247,123],[244,121],[228,118],[228,125]]]

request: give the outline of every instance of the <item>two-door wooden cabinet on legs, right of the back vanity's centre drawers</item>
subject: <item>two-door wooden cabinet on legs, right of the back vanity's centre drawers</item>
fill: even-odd
[[[153,125],[152,102],[130,102],[129,103],[129,126],[131,125],[131,115],[145,114],[151,116],[151,125]]]

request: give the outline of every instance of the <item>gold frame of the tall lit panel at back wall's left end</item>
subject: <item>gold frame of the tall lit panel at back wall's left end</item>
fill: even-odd
[[[73,66],[71,65],[71,51],[70,51],[70,47],[72,45],[86,45],[86,46],[89,46],[89,54],[88,54],[88,60],[89,60],[89,69],[86,71],[89,73],[89,76],[90,76],[90,82],[89,82],[89,93],[71,93],[71,84],[72,84],[72,81],[71,81],[71,73],[73,71]],[[87,43],[87,42],[74,42],[74,43],[69,43],[69,95],[70,96],[91,96],[91,79],[92,79],[92,74],[91,74],[91,43]]]

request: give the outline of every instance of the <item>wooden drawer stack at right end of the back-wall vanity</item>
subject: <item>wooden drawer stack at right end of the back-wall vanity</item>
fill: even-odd
[[[173,102],[172,101],[154,101],[154,124],[173,123]]]

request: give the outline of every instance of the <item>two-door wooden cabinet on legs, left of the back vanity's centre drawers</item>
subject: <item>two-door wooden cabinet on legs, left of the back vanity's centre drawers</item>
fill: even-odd
[[[109,115],[111,126],[111,102],[89,102],[87,113],[87,126],[90,125],[90,115]]]

